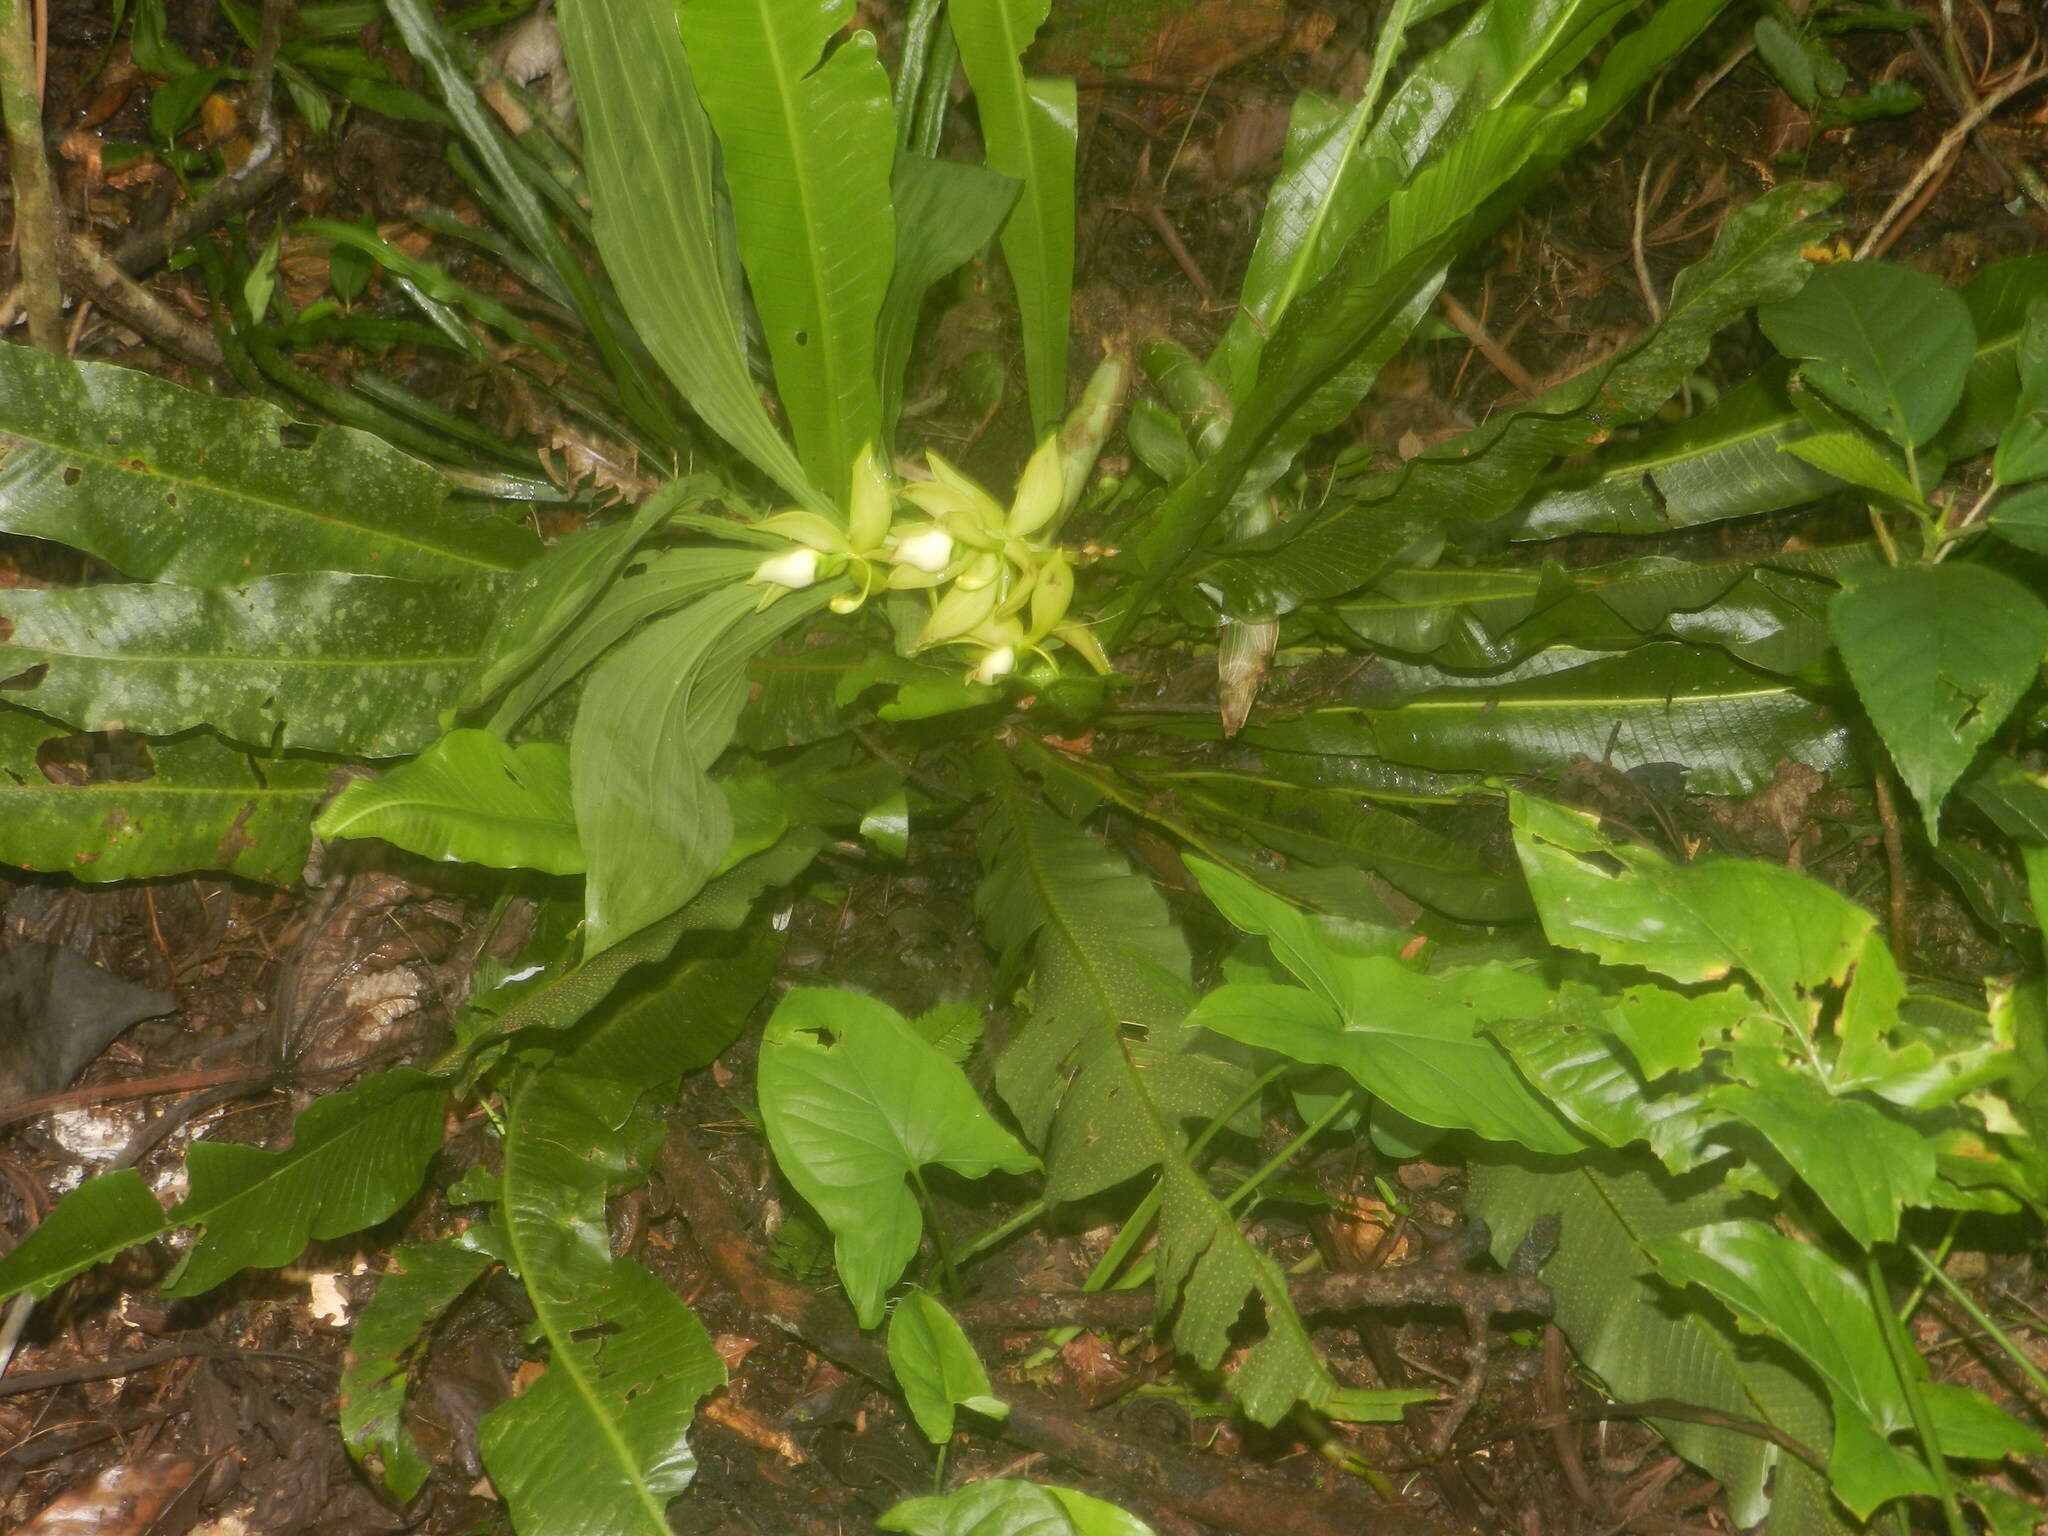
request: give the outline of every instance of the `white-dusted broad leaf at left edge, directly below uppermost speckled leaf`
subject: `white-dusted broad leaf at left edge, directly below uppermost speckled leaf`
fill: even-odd
[[[104,584],[0,598],[14,698],[88,731],[213,725],[260,748],[393,758],[481,645],[483,594],[307,571],[244,588]]]

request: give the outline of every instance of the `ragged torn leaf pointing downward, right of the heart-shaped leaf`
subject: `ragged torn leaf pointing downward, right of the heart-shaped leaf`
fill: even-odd
[[[987,877],[977,907],[1010,952],[1030,952],[1032,1018],[995,1081],[1047,1149],[1047,1188],[1075,1200],[1157,1167],[1159,1292],[1180,1296],[1174,1341],[1214,1368],[1247,1296],[1266,1337],[1231,1374],[1260,1423],[1337,1384],[1309,1341],[1286,1278],[1210,1194],[1186,1157],[1182,1122],[1223,1112],[1241,1073],[1194,1055],[1182,1030],[1188,946],[1151,885],[1112,850],[1030,797],[1004,760],[991,788]],[[1143,1038],[1128,1038],[1143,1028]]]

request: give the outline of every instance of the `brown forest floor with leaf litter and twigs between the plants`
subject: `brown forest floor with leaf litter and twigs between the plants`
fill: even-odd
[[[166,219],[182,197],[170,158],[147,152],[160,80],[135,63],[119,10],[53,0],[45,86],[45,125],[72,227],[109,248]],[[897,6],[864,10],[887,49],[899,29]],[[2030,0],[1980,0],[1958,12],[1966,14],[1972,70],[2011,68],[2042,43]],[[164,14],[168,37],[203,66],[248,59],[213,0],[170,0],[152,14]],[[1288,102],[1303,88],[1356,90],[1370,20],[1372,6],[1350,0],[1057,0],[1034,66],[1081,82],[1077,365],[1085,367],[1104,340],[1171,336],[1202,350],[1221,334],[1229,311],[1219,295],[1235,291],[1249,256]],[[1890,254],[1946,281],[2048,244],[2048,217],[2001,168],[2013,160],[2048,164],[2048,106],[2038,94],[2023,98],[2023,111],[2001,115],[1993,137],[1942,152],[1925,195],[1888,215],[1898,188],[1937,154],[1960,115],[1929,29],[1835,39],[1855,78],[1911,84],[1925,104],[1823,127],[1747,51],[1749,25],[1749,10],[1731,8],[1647,100],[1454,274],[1456,297],[1442,305],[1434,340],[1405,352],[1350,424],[1360,444],[1389,463],[1411,457],[1614,350],[1649,324],[1657,295],[1708,250],[1722,217],[1782,180],[1841,184],[1837,211],[1851,240],[1886,219]],[[395,37],[373,25],[362,41],[408,78],[412,66]],[[233,158],[254,133],[242,113],[240,86],[221,76],[180,147],[223,147]],[[416,217],[428,205],[467,207],[442,150],[444,135],[430,123],[354,109],[338,129],[315,133],[291,115],[283,174],[236,238],[256,250],[295,219],[369,219],[401,250],[487,289],[502,281],[502,268]],[[285,238],[276,274],[299,305],[332,281],[326,250],[299,236]],[[207,334],[209,303],[195,268],[158,268],[145,285],[174,317]],[[395,291],[371,297],[403,309]],[[1001,362],[1012,348],[997,313],[975,295],[946,309],[911,381],[920,430],[956,444],[969,465],[981,455],[1004,457],[1024,430],[1022,389]],[[76,356],[205,383],[203,348],[188,340],[190,332],[135,330],[96,307],[72,311]],[[532,446],[535,463],[553,473],[623,494],[643,481],[641,467],[555,418],[547,399],[510,375],[449,358],[399,346],[375,365],[504,440]],[[299,367],[336,379],[367,360],[350,346],[297,354]],[[1704,537],[1747,535],[1735,524]],[[1616,553],[1581,543],[1573,557]],[[0,584],[84,575],[53,561],[47,547],[0,543]],[[1210,690],[1208,672],[1161,672],[1151,702],[1206,707]],[[1802,858],[1804,868],[1872,905],[1882,905],[1888,881],[1901,877],[1876,838],[1837,836],[1841,817],[1825,782],[1794,774],[1747,801],[1677,795],[1649,811],[1640,784],[1602,776],[1593,764],[1561,764],[1556,788],[1579,801],[1606,799],[1624,819],[1655,811],[1679,838],[1698,836],[1726,852]],[[1133,852],[1143,858],[1143,838]],[[2015,965],[1935,870],[1903,877],[1911,891],[1909,952],[1919,965],[1950,975]],[[784,971],[883,997],[985,997],[989,961],[977,944],[961,942],[948,918],[971,903],[973,881],[967,829],[920,838],[907,866],[877,864],[852,846],[831,850],[784,913]],[[195,1135],[279,1145],[291,1112],[315,1087],[432,1055],[469,967],[492,942],[489,909],[481,887],[406,860],[354,868],[317,895],[221,879],[92,887],[0,874],[10,938],[76,950],[166,1004],[74,1081],[20,1102],[4,1102],[10,1094],[0,1087],[0,1245],[115,1157],[139,1157],[152,1182],[170,1192],[178,1153]],[[47,1081],[6,1055],[31,1055],[33,1026],[0,1018],[0,1083],[16,1071],[27,1073],[18,1081]],[[805,1251],[797,1235],[803,1223],[780,1221],[791,1196],[754,1128],[745,1042],[690,1079],[672,1122],[692,1147],[692,1169],[719,1178],[741,1225],[752,1233],[780,1227],[776,1260],[799,1278],[815,1276],[815,1245]],[[455,1161],[467,1145],[463,1130],[449,1143]],[[1284,1135],[1274,1145],[1280,1141]],[[1292,1180],[1303,1202],[1260,1219],[1264,1241],[1282,1260],[1321,1255],[1335,1270],[1399,1266],[1458,1225],[1458,1167],[1382,1165],[1360,1143],[1309,1161]],[[748,1296],[731,1292],[729,1272],[707,1260],[678,1204],[657,1176],[621,1202],[614,1223],[616,1241],[700,1311],[733,1372],[692,1436],[700,1470],[692,1495],[674,1507],[676,1528],[860,1532],[874,1511],[926,1491],[932,1456],[901,1409],[862,1378],[764,1331]],[[389,1247],[438,1231],[444,1217],[430,1194],[375,1233],[319,1243],[287,1270],[248,1274],[195,1300],[156,1298],[152,1282],[170,1255],[154,1249],[80,1278],[37,1309],[0,1378],[0,1530],[457,1536],[498,1528],[475,1430],[530,1370],[520,1356],[516,1286],[479,1286],[434,1333],[412,1425],[434,1475],[410,1509],[379,1497],[334,1427],[354,1311]],[[999,1303],[1004,1288],[1018,1284],[1073,1284],[1106,1241],[1102,1221],[1102,1212],[1081,1208],[1040,1227],[977,1268],[971,1300]],[[1982,1305],[2032,1317],[2034,1339],[2048,1329],[2048,1264],[2038,1253],[1989,1255],[1954,1272]],[[1966,1319],[1937,1296],[1921,1313],[1921,1329],[1937,1370],[1972,1378]],[[1456,1380],[1462,1370],[1460,1323],[1432,1309],[1339,1317],[1317,1341],[1356,1362],[1362,1378],[1386,1384]],[[1001,1376],[1022,1368],[1040,1337],[997,1331],[985,1343]],[[1161,1364],[1161,1346],[1145,1337],[1083,1331],[1028,1372],[1110,1436],[1128,1436],[1133,1446],[1194,1446],[1241,1470],[1247,1497],[1274,1511],[1276,1534],[1290,1528],[1290,1497],[1358,1485],[1354,1470],[1317,1456],[1290,1430],[1255,1432],[1190,1411],[1188,1401],[1159,1389]],[[1497,1352],[1489,1393],[1448,1452],[1430,1450],[1419,1415],[1382,1425],[1350,1450],[1395,1487],[1425,1487],[1446,1522],[1438,1530],[1731,1530],[1712,1483],[1647,1427],[1610,1413],[1536,1319]],[[954,1464],[1057,1470],[973,1436],[956,1448]],[[1116,1497],[1116,1489],[1104,1493]],[[1153,1518],[1163,1536],[1200,1530]]]

